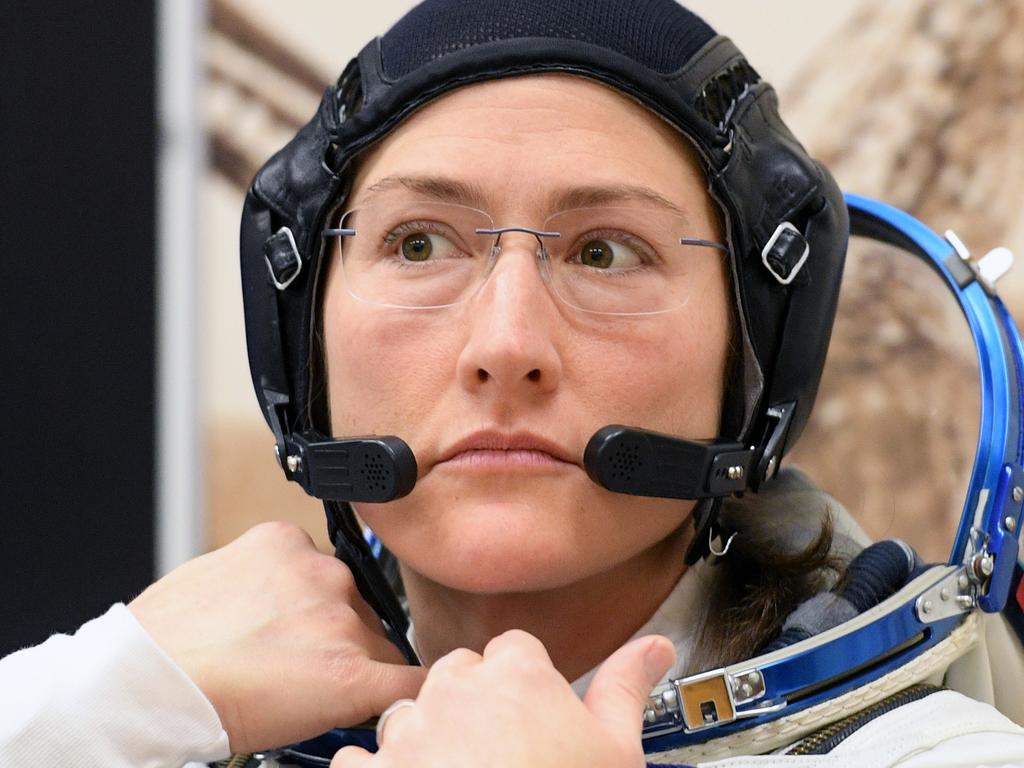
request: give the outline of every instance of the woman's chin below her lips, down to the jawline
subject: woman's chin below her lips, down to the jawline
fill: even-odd
[[[609,570],[663,540],[688,507],[630,500],[581,478],[417,488],[359,513],[407,567],[471,594],[542,592]]]

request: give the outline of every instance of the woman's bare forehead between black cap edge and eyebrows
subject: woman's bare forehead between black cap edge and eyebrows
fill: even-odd
[[[352,198],[395,177],[471,188],[496,212],[580,187],[644,188],[684,210],[707,198],[685,137],[624,94],[567,75],[474,84],[430,102],[364,155]]]

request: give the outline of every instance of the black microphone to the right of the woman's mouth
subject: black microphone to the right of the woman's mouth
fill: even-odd
[[[612,424],[587,443],[584,466],[598,485],[630,496],[710,499],[746,488],[754,450],[739,442],[684,440]]]

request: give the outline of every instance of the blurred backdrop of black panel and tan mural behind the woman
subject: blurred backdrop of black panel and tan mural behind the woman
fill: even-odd
[[[0,654],[128,600],[260,520],[326,546],[252,393],[246,185],[414,3],[30,4],[0,33]],[[686,3],[780,92],[850,191],[1024,257],[1024,2]],[[1024,267],[1000,284],[1024,312]],[[974,351],[927,269],[855,246],[792,463],[874,537],[944,559],[977,430]]]

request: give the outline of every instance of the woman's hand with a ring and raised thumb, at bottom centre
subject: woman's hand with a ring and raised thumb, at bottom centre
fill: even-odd
[[[580,698],[539,640],[507,632],[480,656],[456,650],[431,669],[415,707],[387,720],[379,752],[341,750],[331,768],[644,765],[644,702],[675,659],[664,637],[613,653]]]

